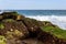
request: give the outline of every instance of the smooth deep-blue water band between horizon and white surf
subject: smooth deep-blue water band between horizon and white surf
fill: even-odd
[[[66,10],[16,10],[25,15],[66,15]]]

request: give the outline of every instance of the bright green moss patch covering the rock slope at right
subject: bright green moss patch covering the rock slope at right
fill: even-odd
[[[59,28],[54,26],[42,26],[41,29],[45,32],[50,32],[51,34],[57,36],[58,38],[66,38],[66,30],[62,30]]]

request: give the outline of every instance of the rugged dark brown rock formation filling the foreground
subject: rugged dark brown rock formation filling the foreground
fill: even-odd
[[[0,44],[66,44],[66,40],[52,34],[54,28],[58,29],[48,21],[3,12],[0,14]]]

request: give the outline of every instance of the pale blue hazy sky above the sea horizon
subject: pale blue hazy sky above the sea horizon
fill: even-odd
[[[0,0],[0,10],[66,10],[66,0]]]

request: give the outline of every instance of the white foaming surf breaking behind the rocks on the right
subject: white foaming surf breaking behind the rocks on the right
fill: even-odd
[[[36,19],[38,21],[50,21],[61,29],[66,30],[66,15],[26,15],[31,19]]]

